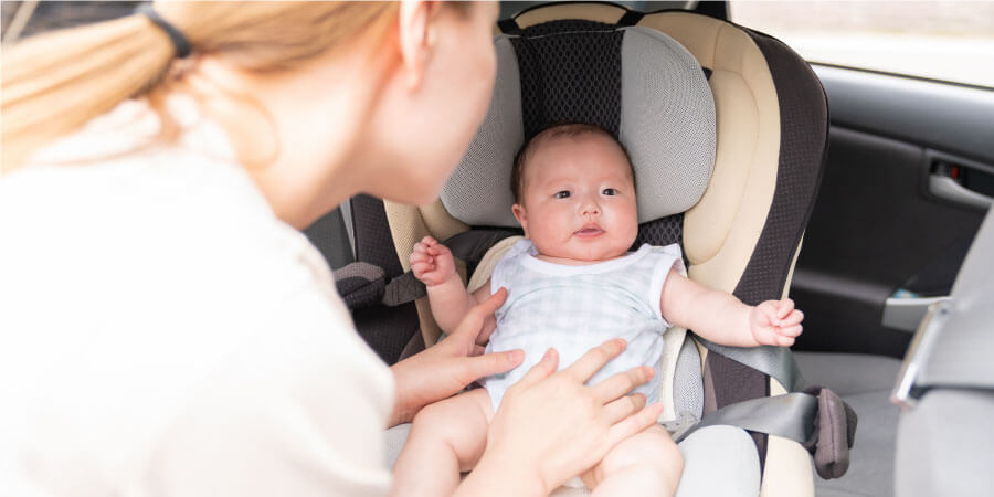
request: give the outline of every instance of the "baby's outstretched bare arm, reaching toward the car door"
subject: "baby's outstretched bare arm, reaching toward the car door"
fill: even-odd
[[[670,324],[732,347],[790,347],[801,335],[804,319],[789,298],[749,306],[734,295],[707,288],[675,269],[669,271],[663,284],[659,309]]]

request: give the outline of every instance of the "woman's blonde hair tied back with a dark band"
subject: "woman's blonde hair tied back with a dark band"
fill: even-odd
[[[289,71],[395,19],[393,2],[156,2],[189,40],[247,72]],[[8,172],[38,147],[120,102],[156,95],[181,77],[166,32],[146,15],[46,33],[4,51],[2,165]],[[184,61],[179,61],[184,62]],[[165,116],[163,116],[165,117]]]

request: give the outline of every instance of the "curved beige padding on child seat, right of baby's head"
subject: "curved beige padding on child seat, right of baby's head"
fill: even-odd
[[[744,32],[702,15],[667,12],[638,25],[680,42],[705,67],[715,95],[718,150],[711,182],[684,215],[690,277],[732,292],[765,224],[776,186],[780,105],[762,52]]]

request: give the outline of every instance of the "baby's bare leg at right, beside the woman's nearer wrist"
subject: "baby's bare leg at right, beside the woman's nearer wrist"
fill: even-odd
[[[679,448],[656,424],[615,445],[582,479],[594,496],[660,497],[676,493],[683,470]]]

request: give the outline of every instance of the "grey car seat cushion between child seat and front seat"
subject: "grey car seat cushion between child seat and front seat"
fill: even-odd
[[[888,395],[900,361],[858,353],[795,352],[794,357],[806,379],[831,387],[859,414],[859,436],[849,451],[849,470],[838,479],[815,476],[817,496],[892,496],[900,411]]]

